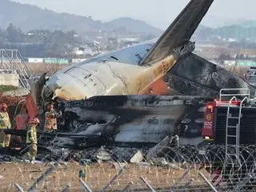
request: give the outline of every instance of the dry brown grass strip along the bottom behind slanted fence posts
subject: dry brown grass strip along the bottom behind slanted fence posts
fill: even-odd
[[[15,191],[14,182],[22,186],[23,190],[28,190],[32,183],[50,166],[42,164],[26,164],[13,163],[2,164],[0,166],[0,191]],[[58,166],[41,185],[37,191],[60,191],[63,186],[70,183],[70,191],[81,191],[81,186],[78,182],[78,172],[81,169],[77,163]],[[87,181],[93,191],[102,190],[110,179],[117,174],[118,168],[113,163],[93,164],[88,167]],[[146,186],[140,180],[140,177],[145,177],[155,189],[170,188],[178,178],[186,172],[184,170],[174,170],[173,168],[164,168],[159,166],[138,166],[130,164],[124,170],[122,176],[111,185],[111,190],[122,190],[129,182],[134,182],[131,189],[146,189]],[[205,186],[205,182],[198,176],[196,170],[191,170],[190,174],[180,182],[184,185],[190,178],[194,179],[193,186]]]

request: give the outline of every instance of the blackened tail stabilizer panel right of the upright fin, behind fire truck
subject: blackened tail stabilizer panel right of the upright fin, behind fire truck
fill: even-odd
[[[180,58],[166,75],[165,82],[184,95],[218,98],[219,91],[228,88],[249,88],[251,94],[255,93],[255,87],[242,78],[196,54]]]

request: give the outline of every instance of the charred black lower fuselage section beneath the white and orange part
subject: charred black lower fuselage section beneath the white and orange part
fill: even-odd
[[[174,134],[187,138],[186,144],[194,144],[190,143],[192,138],[202,142],[204,106],[210,101],[189,96],[130,95],[66,102],[65,133],[52,134],[57,136],[53,143],[75,148],[85,142],[84,138],[95,138],[100,145],[154,146]]]

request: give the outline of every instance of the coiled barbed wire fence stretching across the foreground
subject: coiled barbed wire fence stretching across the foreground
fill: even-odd
[[[90,150],[88,151],[90,152]],[[91,157],[95,158],[97,153],[102,152],[103,149],[91,151],[94,151]],[[111,153],[111,151],[113,152]],[[141,177],[145,178],[156,191],[170,191],[170,188],[174,188],[173,191],[212,190],[211,186],[202,178],[202,174],[217,191],[254,191],[256,189],[255,146],[240,146],[238,158],[231,157],[225,151],[225,146],[214,145],[206,146],[204,150],[195,146],[161,146],[155,157],[146,160],[146,152],[142,151],[144,155],[142,162],[124,164],[118,161],[114,150],[106,148],[105,152],[110,158],[87,165],[86,183],[93,191],[102,190],[118,170],[126,165],[123,174],[111,183],[109,190],[120,191],[131,182],[130,190],[146,190],[148,187],[142,182]],[[75,153],[80,155],[76,160],[84,158],[84,152]],[[66,155],[70,154],[66,153]],[[62,154],[58,158],[63,160],[66,156]],[[47,191],[60,191],[67,183],[70,183],[72,191],[81,189],[78,173],[83,166],[75,162],[61,163],[60,165],[40,186],[42,190],[46,188]],[[2,164],[0,175],[4,182],[1,182],[0,189],[1,187],[2,190],[7,190],[8,187],[12,189],[14,182],[18,182],[20,186],[26,188],[32,184],[38,174],[42,174],[48,167],[47,163],[36,165],[15,162]],[[3,171],[4,169],[8,171]],[[17,172],[20,173],[19,176]],[[41,191],[40,187],[38,191]]]

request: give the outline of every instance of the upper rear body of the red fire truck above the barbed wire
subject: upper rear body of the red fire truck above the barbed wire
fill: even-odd
[[[206,104],[202,138],[226,146],[226,154],[237,155],[240,145],[256,143],[256,99],[249,89],[222,89],[219,98]],[[229,154],[228,146],[236,147]]]

